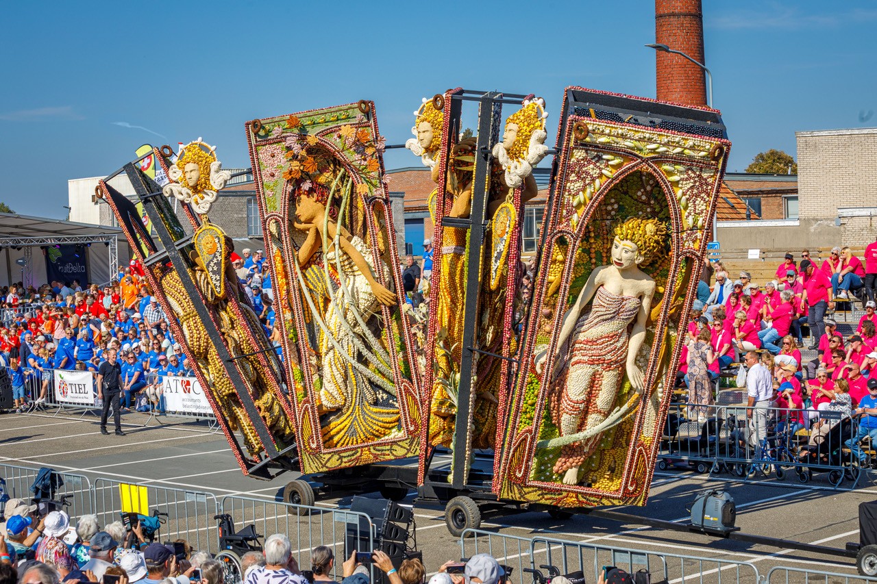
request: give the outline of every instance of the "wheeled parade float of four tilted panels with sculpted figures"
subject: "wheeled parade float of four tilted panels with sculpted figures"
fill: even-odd
[[[120,171],[157,243],[101,182],[246,474],[301,470],[286,496],[304,503],[416,488],[457,534],[482,511],[645,504],[730,143],[717,110],[573,87],[552,152],[550,110],[466,89],[417,108],[405,146],[435,182],[421,338],[374,103],[246,123],[275,343],[208,218],[227,180],[212,148],[156,150],[163,188],[135,163]],[[524,259],[524,205],[552,153],[538,251]]]

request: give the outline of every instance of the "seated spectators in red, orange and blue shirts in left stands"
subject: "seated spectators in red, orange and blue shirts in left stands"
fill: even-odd
[[[278,347],[271,279],[262,251],[232,253],[232,267],[268,338]],[[168,315],[139,262],[120,266],[103,287],[52,281],[0,289],[0,359],[7,367],[15,408],[26,412],[51,400],[54,370],[97,373],[113,350],[121,364],[122,411],[165,413],[166,377],[193,375]]]

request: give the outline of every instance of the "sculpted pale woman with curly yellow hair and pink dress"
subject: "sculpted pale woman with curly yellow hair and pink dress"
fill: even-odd
[[[666,238],[666,227],[657,219],[631,218],[618,225],[612,263],[591,272],[564,317],[558,336],[561,375],[551,412],[561,437],[574,437],[602,423],[615,405],[624,374],[631,388],[643,391],[645,380],[636,357],[645,339],[655,281],[640,266],[664,249]],[[585,310],[588,303],[590,310]],[[544,365],[542,355],[538,374]],[[564,484],[579,482],[579,468],[601,438],[598,432],[563,447],[554,472],[564,474]]]

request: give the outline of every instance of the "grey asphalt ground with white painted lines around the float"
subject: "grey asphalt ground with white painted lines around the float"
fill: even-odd
[[[51,466],[60,471],[84,474],[92,482],[104,477],[181,489],[181,492],[203,491],[216,495],[217,500],[225,495],[251,497],[266,502],[266,507],[257,511],[257,515],[262,513],[274,519],[277,512],[266,510],[267,505],[281,500],[282,489],[288,481],[296,478],[296,474],[284,474],[273,481],[247,478],[241,474],[221,433],[209,431],[203,423],[178,420],[161,426],[153,422],[153,425],[144,427],[145,420],[146,417],[139,414],[126,415],[123,427],[127,435],[117,437],[101,435],[96,418],[92,416],[6,414],[0,416],[0,463]],[[819,477],[804,486],[796,483],[794,476],[782,482],[745,482],[731,481],[727,476],[709,478],[689,471],[668,471],[655,475],[652,495],[645,507],[618,510],[681,522],[688,518],[686,507],[695,495],[708,488],[724,488],[731,493],[737,504],[737,525],[741,531],[838,548],[844,547],[847,541],[858,540],[859,502],[877,499],[873,476],[863,477],[855,491],[842,491],[832,490],[828,482]],[[350,498],[346,497],[321,500],[318,504],[326,508],[343,508],[349,502]],[[405,503],[412,502],[413,492]],[[239,514],[236,518],[246,520],[246,516]],[[592,566],[621,565],[631,560],[636,566],[644,561],[638,555],[613,555],[612,549],[619,548],[673,554],[667,558],[667,566],[671,581],[676,582],[701,581],[701,573],[707,574],[702,581],[754,581],[747,572],[748,567],[720,563],[725,561],[749,562],[761,574],[766,574],[773,566],[855,573],[852,559],[837,555],[643,528],[633,522],[618,523],[594,516],[579,515],[557,520],[535,512],[488,517],[482,523],[482,529],[496,535],[468,539],[461,549],[460,539],[453,538],[446,530],[443,509],[416,505],[415,518],[417,548],[424,552],[428,572],[435,571],[448,559],[460,559],[474,552],[492,552],[504,563],[515,566],[518,575],[513,580],[516,584],[526,584],[531,580],[529,575],[520,576],[520,568],[529,565],[531,553],[537,565],[545,563],[548,559],[545,554],[548,553],[551,553],[551,563],[555,565],[560,565],[565,556],[569,569],[582,564],[586,566],[586,574]],[[325,531],[328,529],[325,522],[315,531],[314,522],[318,520],[314,518],[284,516],[283,521],[285,523],[273,523],[277,531],[291,530],[290,522],[308,523],[308,538],[301,537],[305,532],[302,527],[297,531],[299,537],[293,539],[294,543],[301,542],[299,549],[303,557],[306,557],[308,547],[320,538],[324,539],[321,543],[327,544],[339,544],[339,541],[330,542],[328,539],[343,539],[338,531],[334,531],[337,526],[333,526],[332,531]],[[271,525],[263,523],[267,530],[272,529]],[[529,541],[517,538],[552,541],[538,543],[531,549]],[[581,550],[564,548],[553,542],[554,539],[582,542],[590,547]],[[674,556],[695,556],[714,561],[698,563],[694,559]],[[656,556],[648,561],[654,569],[655,562],[661,560]],[[303,561],[303,567],[307,567],[307,560]],[[691,580],[693,577],[695,580]],[[593,581],[591,576],[587,578],[588,582]],[[787,580],[783,576],[772,581]],[[803,576],[799,578],[793,574],[788,579],[788,582],[795,581],[804,581]]]

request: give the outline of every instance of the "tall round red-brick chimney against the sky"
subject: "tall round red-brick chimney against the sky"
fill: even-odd
[[[655,42],[703,60],[701,0],[655,0]],[[702,68],[678,54],[655,51],[658,99],[685,105],[706,105]]]

